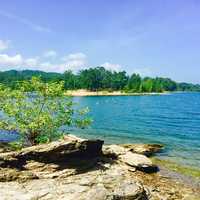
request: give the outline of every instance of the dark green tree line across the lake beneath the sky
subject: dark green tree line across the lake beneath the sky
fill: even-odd
[[[139,74],[128,75],[125,71],[110,71],[104,67],[95,67],[73,73],[43,72],[35,70],[0,72],[0,83],[16,88],[18,82],[40,77],[45,83],[64,82],[66,90],[87,89],[90,91],[124,91],[124,92],[164,92],[164,91],[200,91],[199,84],[177,83],[170,78],[142,78]]]

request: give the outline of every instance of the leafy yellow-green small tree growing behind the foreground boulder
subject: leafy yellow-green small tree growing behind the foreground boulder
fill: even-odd
[[[63,136],[62,126],[85,127],[88,109],[74,110],[63,82],[43,83],[38,78],[24,81],[16,90],[0,86],[0,129],[16,130],[21,144],[35,145]]]

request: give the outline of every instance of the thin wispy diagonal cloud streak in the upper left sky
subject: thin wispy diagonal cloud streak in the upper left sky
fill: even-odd
[[[28,20],[24,17],[14,15],[14,14],[9,13],[9,12],[5,12],[5,11],[0,10],[0,15],[3,16],[3,17],[6,17],[8,19],[12,19],[12,20],[19,22],[21,24],[24,24],[25,26],[27,26],[27,27],[29,27],[29,28],[33,29],[34,31],[37,31],[37,32],[46,32],[46,33],[52,32],[52,30],[50,30],[49,28],[47,28],[45,26],[35,24],[32,21],[30,21],[30,20]]]

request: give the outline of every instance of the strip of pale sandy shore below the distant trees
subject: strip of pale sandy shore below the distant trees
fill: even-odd
[[[122,91],[113,91],[113,92],[109,92],[109,91],[88,91],[88,90],[84,90],[84,89],[80,89],[80,90],[67,90],[66,91],[66,95],[69,96],[78,96],[78,97],[82,97],[82,96],[141,96],[141,95],[165,95],[165,94],[169,94],[170,92],[162,92],[162,93],[158,93],[158,92],[137,92],[137,93],[125,93]]]

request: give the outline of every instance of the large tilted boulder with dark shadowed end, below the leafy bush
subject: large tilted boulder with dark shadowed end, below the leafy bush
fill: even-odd
[[[96,158],[102,153],[102,145],[102,140],[60,140],[36,145],[21,151],[0,153],[0,167],[23,169],[30,160],[48,164]]]

